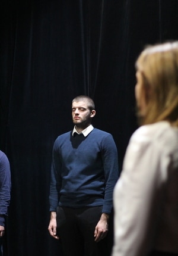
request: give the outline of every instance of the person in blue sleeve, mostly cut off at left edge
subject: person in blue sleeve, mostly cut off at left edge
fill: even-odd
[[[5,230],[5,217],[11,192],[11,173],[7,156],[0,150],[0,256],[2,255],[2,238]]]

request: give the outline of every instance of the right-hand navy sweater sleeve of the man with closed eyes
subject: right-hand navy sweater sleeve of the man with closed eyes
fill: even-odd
[[[104,165],[105,192],[102,213],[110,214],[113,208],[113,188],[119,178],[117,148],[113,136],[108,134],[101,143]]]

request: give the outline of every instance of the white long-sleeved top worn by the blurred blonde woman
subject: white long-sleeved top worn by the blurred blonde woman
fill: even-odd
[[[114,191],[112,256],[178,253],[178,129],[166,121],[132,135]]]

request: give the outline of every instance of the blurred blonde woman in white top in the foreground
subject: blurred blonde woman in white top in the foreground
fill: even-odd
[[[136,61],[140,127],[114,189],[112,256],[178,255],[178,42]]]

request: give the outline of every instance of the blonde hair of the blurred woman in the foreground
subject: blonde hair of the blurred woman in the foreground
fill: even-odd
[[[142,124],[167,120],[178,126],[178,42],[147,46],[136,61],[147,94]]]

